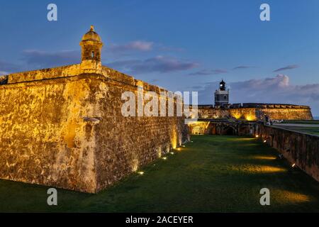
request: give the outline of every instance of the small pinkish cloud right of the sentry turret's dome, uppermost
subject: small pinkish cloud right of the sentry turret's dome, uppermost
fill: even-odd
[[[130,43],[126,43],[123,45],[113,44],[109,48],[113,53],[123,53],[123,52],[130,52],[130,51],[150,51],[153,48],[154,43],[152,42],[145,42],[136,40]]]

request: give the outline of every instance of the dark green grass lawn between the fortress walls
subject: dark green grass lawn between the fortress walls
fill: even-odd
[[[276,151],[254,138],[196,135],[99,194],[58,189],[47,206],[47,188],[0,180],[0,211],[99,212],[319,212],[319,183],[291,170]],[[270,206],[259,190],[270,190]]]

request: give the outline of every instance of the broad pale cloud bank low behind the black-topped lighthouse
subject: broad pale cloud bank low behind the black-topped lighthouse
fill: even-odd
[[[278,74],[276,77],[250,79],[226,84],[230,88],[231,103],[258,102],[279,104],[308,105],[313,115],[319,116],[319,84],[291,84],[289,76]],[[212,92],[218,82],[207,83],[198,91],[198,102],[212,104]]]

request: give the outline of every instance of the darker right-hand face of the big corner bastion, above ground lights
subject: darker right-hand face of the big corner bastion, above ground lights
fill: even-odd
[[[122,79],[128,79],[125,75]],[[184,117],[124,117],[121,114],[121,94],[134,92],[136,83],[144,92],[159,92],[159,87],[142,83],[119,82],[100,77],[91,81],[91,100],[96,103],[101,121],[96,124],[96,181],[97,190],[138,170],[152,160],[189,140]]]

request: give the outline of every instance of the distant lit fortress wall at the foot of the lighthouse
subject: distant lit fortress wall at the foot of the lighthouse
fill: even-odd
[[[236,118],[247,121],[263,120],[267,115],[273,120],[312,120],[309,106],[291,104],[233,104],[226,108],[198,105],[198,118]]]

